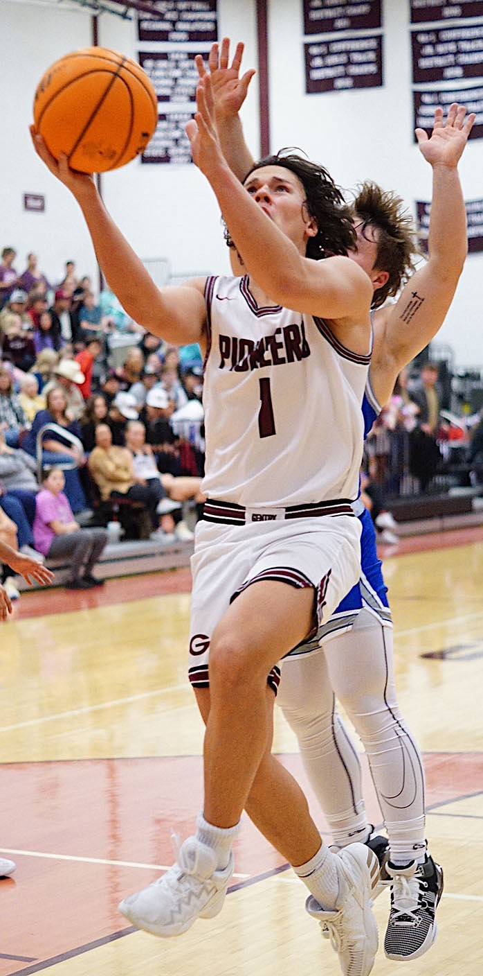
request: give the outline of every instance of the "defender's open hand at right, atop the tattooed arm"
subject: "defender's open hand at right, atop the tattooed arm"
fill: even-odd
[[[474,112],[470,112],[466,119],[465,114],[465,105],[453,102],[444,122],[443,109],[438,106],[434,111],[430,137],[427,137],[425,129],[416,129],[418,145],[430,166],[458,166],[476,118]]]

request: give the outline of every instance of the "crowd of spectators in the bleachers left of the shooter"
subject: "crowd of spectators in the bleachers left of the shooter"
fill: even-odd
[[[39,561],[75,543],[70,582],[93,586],[93,560],[107,536],[94,532],[91,551],[82,533],[118,517],[121,505],[128,534],[145,531],[146,520],[134,517],[141,507],[162,545],[192,538],[184,506],[191,501],[200,513],[204,501],[201,352],[146,333],[111,292],[97,297],[74,262],[51,284],[35,254],[21,273],[16,259],[3,249],[0,537],[3,525],[6,541]],[[65,518],[39,530],[54,508]]]

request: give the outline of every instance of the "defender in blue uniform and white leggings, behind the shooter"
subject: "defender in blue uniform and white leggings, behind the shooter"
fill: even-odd
[[[238,112],[253,75],[247,71],[239,77],[241,54],[238,45],[229,66],[225,39],[220,52],[213,45],[208,60],[220,137],[239,176],[251,165]],[[203,59],[197,62],[204,76]],[[377,309],[362,406],[365,434],[389,399],[399,371],[439,329],[463,268],[466,222],[457,167],[474,122],[473,114],[466,121],[464,115],[464,106],[452,104],[443,125],[442,111],[437,109],[430,139],[417,131],[433,172],[428,261],[410,278],[395,305],[380,307],[413,270],[411,222],[402,211],[402,201],[373,183],[364,183],[353,203],[357,246],[351,257],[371,278],[372,305]],[[352,718],[369,758],[390,837],[386,856],[390,860],[382,873],[391,894],[386,955],[416,958],[427,952],[436,936],[434,910],[442,891],[442,871],[427,855],[422,758],[395,698],[390,608],[369,512],[362,509],[360,521],[360,581],[315,640],[285,659],[279,705],[297,735],[334,842],[344,846],[357,837],[373,843],[381,856],[384,838],[370,838],[358,758],[335,711],[334,692]],[[307,654],[317,641],[319,653]],[[263,816],[253,810],[250,815],[266,833]]]

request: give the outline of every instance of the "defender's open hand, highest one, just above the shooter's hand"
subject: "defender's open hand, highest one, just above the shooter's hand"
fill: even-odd
[[[237,115],[241,109],[248,85],[255,74],[255,69],[250,68],[240,77],[241,58],[243,56],[243,44],[237,44],[233,61],[230,61],[230,38],[224,37],[221,48],[215,42],[208,55],[209,76],[211,79],[211,91],[213,94],[214,109],[217,118],[227,118]],[[207,74],[204,67],[202,55],[195,58],[196,66],[200,78]]]

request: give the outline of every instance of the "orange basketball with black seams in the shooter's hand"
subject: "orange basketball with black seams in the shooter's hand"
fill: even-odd
[[[47,69],[33,119],[56,159],[65,153],[71,169],[103,173],[145,149],[158,123],[158,100],[135,61],[108,48],[84,48]]]

